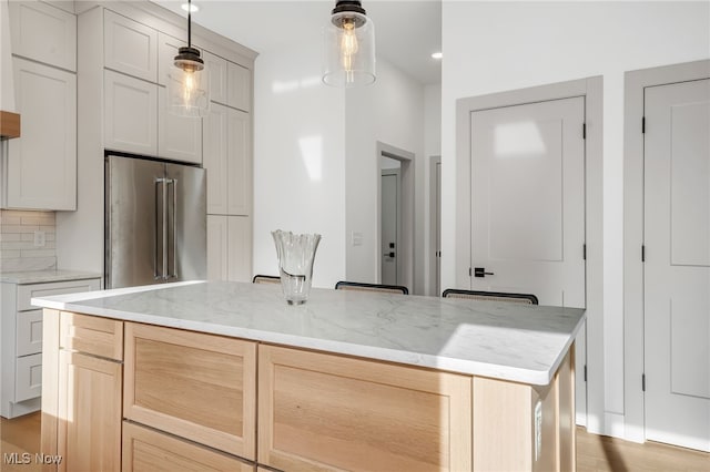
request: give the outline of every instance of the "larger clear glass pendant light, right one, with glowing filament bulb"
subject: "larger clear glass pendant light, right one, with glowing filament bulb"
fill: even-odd
[[[325,28],[327,85],[351,88],[375,82],[375,25],[358,0],[338,0]]]

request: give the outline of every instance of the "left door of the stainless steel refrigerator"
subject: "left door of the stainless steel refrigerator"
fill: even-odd
[[[162,281],[164,170],[160,162],[105,160],[106,288]]]

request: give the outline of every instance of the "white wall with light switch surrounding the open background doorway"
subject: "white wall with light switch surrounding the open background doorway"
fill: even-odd
[[[424,293],[424,86],[382,58],[371,86],[349,89],[345,106],[346,277],[375,283],[377,261],[377,141],[415,154],[413,293]],[[353,246],[352,233],[363,235]],[[412,287],[410,287],[412,288]]]

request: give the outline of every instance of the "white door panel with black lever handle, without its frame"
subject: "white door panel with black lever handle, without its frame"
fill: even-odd
[[[471,289],[585,308],[584,123],[581,96],[471,113]],[[585,329],[576,355],[585,424]]]

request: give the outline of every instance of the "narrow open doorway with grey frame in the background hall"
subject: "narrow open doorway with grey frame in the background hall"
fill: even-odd
[[[377,281],[388,284],[386,280],[396,277],[397,283],[389,285],[405,286],[410,294],[414,294],[414,156],[377,142]]]

